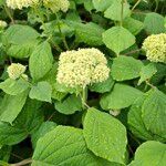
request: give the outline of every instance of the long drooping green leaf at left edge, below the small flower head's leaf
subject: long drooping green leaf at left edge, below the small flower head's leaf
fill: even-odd
[[[18,95],[6,94],[0,105],[0,121],[9,122],[12,124],[12,122],[21,112],[27,96],[28,91],[24,91]]]

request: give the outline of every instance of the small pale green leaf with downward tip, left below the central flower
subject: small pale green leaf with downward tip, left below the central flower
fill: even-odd
[[[32,100],[51,103],[51,93],[52,93],[51,85],[48,82],[42,81],[38,82],[37,85],[32,86],[29,96]]]

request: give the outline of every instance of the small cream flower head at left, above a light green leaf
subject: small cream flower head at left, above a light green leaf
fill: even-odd
[[[10,66],[8,66],[7,72],[10,79],[17,80],[20,76],[25,75],[23,74],[25,72],[25,66],[20,63],[12,63]]]

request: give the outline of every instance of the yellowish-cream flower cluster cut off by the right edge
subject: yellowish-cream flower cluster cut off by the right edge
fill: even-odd
[[[166,33],[149,35],[145,39],[143,49],[149,61],[166,63]]]

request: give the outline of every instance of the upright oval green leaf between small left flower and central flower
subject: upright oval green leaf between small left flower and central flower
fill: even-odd
[[[31,76],[34,81],[42,79],[52,68],[53,55],[48,42],[35,48],[29,60]]]

